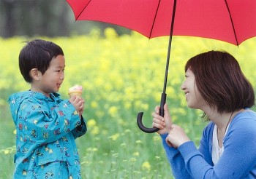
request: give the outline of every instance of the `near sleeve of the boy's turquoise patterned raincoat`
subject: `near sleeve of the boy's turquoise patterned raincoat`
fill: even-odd
[[[81,123],[75,107],[68,100],[50,109],[45,105],[35,105],[31,100],[24,100],[23,108],[18,111],[19,116],[18,125],[22,128],[23,138],[29,138],[32,143],[39,145],[59,140]]]

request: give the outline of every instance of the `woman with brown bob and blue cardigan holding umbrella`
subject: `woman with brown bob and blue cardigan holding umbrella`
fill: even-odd
[[[200,146],[165,116],[152,114],[175,178],[256,178],[255,93],[237,60],[227,52],[210,51],[192,57],[181,85],[189,108],[210,121]]]

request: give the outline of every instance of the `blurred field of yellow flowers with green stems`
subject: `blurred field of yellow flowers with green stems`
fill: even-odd
[[[117,36],[108,28],[105,36],[38,37],[62,47],[66,59],[65,80],[59,93],[75,84],[84,88],[84,116],[88,132],[78,138],[83,178],[170,178],[171,171],[155,134],[141,132],[136,124],[138,112],[151,126],[151,112],[162,93],[168,37],[148,40],[139,33]],[[33,38],[36,39],[36,38]],[[18,68],[18,54],[25,37],[0,39],[0,178],[11,178],[15,154],[15,127],[7,98],[29,90]],[[200,111],[187,108],[180,90],[184,65],[200,52],[222,49],[238,59],[245,76],[256,89],[256,38],[239,47],[222,41],[174,36],[167,80],[167,103],[173,121],[185,128],[198,145],[203,127]],[[255,109],[255,108],[254,108]]]

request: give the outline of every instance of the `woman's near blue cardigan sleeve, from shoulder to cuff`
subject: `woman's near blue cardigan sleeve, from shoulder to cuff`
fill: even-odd
[[[192,178],[246,178],[256,166],[256,120],[233,119],[224,138],[224,152],[219,162],[211,166],[190,142],[178,148]]]

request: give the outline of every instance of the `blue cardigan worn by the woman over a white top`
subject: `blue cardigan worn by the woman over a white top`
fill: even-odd
[[[237,114],[223,139],[225,151],[214,166],[211,159],[214,123],[203,130],[197,149],[192,141],[178,148],[167,146],[161,135],[167,159],[175,178],[256,178],[256,113]]]

